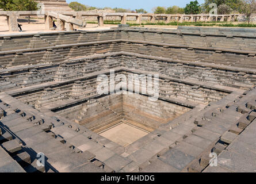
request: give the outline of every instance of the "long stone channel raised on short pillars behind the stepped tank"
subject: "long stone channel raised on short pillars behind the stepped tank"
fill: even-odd
[[[141,24],[142,18],[147,17],[152,23],[157,18],[163,18],[166,23],[177,22],[196,22],[196,21],[235,21],[239,14],[214,15],[214,14],[140,14],[140,13],[92,13],[87,11],[0,11],[0,16],[6,16],[9,30],[18,31],[17,16],[45,16],[45,28],[52,28],[53,18],[58,20],[58,29],[64,30],[64,23],[68,23],[68,30],[73,30],[73,25],[85,26],[84,17],[97,17],[98,26],[104,26],[107,17],[120,17],[121,24],[127,24],[127,17],[135,17],[136,23]]]

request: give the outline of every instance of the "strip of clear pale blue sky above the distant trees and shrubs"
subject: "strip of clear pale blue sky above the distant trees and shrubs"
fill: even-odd
[[[152,12],[152,8],[156,6],[170,7],[177,5],[179,7],[185,7],[190,1],[194,0],[66,0],[68,3],[77,1],[84,5],[95,6],[95,7],[122,7],[124,9],[140,9],[143,8],[148,12]],[[198,3],[204,3],[204,0],[197,0]]]

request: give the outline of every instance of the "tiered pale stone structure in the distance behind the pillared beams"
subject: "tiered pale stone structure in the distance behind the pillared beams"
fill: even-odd
[[[66,0],[44,0],[36,2],[44,5],[44,11],[72,11]]]

